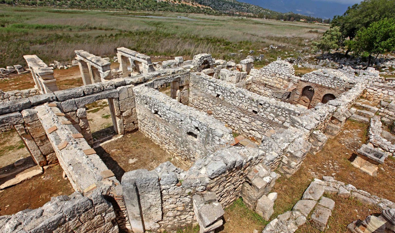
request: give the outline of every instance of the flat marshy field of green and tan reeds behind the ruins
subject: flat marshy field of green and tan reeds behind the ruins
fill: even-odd
[[[74,60],[74,50],[79,49],[111,57],[115,56],[118,47],[128,47],[149,56],[193,56],[207,52],[217,59],[238,62],[245,59],[249,50],[259,55],[263,52],[258,50],[270,45],[286,45],[265,54],[265,59],[272,61],[276,56],[285,58],[285,51],[305,47],[305,39],[318,38],[327,29],[316,24],[196,13],[161,14],[167,17],[184,15],[197,21],[119,14],[121,12],[0,6],[0,67],[25,65],[23,55],[26,54],[36,54],[47,63],[53,60],[70,62]],[[241,55],[228,56],[242,49]],[[257,62],[256,65],[265,63]]]

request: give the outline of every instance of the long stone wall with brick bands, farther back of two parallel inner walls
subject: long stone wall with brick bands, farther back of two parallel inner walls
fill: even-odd
[[[269,130],[289,127],[304,111],[204,74],[191,74],[189,104],[257,140]]]

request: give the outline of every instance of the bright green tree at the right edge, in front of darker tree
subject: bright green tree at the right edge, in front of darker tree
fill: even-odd
[[[369,57],[368,66],[372,55],[395,50],[395,19],[382,19],[373,22],[369,27],[362,28],[355,38],[347,41],[346,45],[355,54]]]

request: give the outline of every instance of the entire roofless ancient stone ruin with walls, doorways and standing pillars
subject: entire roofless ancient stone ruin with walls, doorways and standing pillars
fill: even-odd
[[[223,224],[224,208],[239,197],[269,220],[276,200],[271,189],[280,176],[274,170],[286,177],[299,170],[309,151],[320,151],[358,113],[352,106],[359,97],[395,98],[392,86],[351,72],[320,69],[295,76],[293,66],[280,59],[261,69],[254,69],[252,59],[236,64],[211,54],[160,64],[122,47],[118,72],[103,58],[75,54],[84,86],[58,90],[52,69],[26,55],[40,94],[3,94],[0,103],[1,131],[15,128],[38,166],[59,163],[75,193],[0,216],[1,232],[145,232],[196,223],[201,233],[214,232]],[[366,72],[380,80],[378,71]],[[166,86],[169,96],[158,91]],[[165,162],[117,179],[93,149],[85,106],[98,100],[107,100],[117,134],[139,130],[188,170]],[[385,143],[373,138],[353,162],[372,173],[368,162],[385,162],[394,152],[387,144],[387,150],[378,149]],[[293,210],[263,232],[282,232],[285,224],[292,233],[307,217],[323,230],[335,205],[324,192],[367,196],[360,191],[332,177],[315,180]],[[395,208],[386,199],[376,202],[383,210]]]

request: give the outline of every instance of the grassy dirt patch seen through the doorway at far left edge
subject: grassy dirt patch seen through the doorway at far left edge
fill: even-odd
[[[0,168],[30,156],[15,129],[0,134]]]

